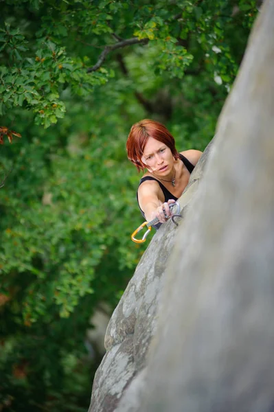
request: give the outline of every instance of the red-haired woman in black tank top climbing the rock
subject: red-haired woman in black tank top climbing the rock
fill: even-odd
[[[138,172],[147,170],[137,189],[141,214],[148,221],[158,218],[160,223],[165,222],[170,217],[170,203],[174,203],[185,190],[202,152],[177,152],[174,137],[168,129],[150,119],[133,124],[126,150]]]

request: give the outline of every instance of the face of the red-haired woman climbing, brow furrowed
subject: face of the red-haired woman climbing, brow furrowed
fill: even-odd
[[[174,158],[170,148],[153,137],[148,137],[141,161],[154,174],[165,176],[173,170]]]

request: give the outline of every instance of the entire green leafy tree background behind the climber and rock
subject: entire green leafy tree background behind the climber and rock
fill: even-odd
[[[91,317],[148,246],[130,240],[130,126],[157,119],[204,150],[259,3],[1,1],[0,126],[22,137],[0,146],[0,411],[87,411]]]

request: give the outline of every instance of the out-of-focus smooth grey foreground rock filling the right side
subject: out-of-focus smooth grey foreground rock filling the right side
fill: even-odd
[[[274,411],[273,133],[271,0],[176,237],[141,412]]]

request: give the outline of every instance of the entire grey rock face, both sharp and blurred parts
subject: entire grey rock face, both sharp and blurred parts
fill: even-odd
[[[273,39],[269,0],[179,228],[154,236],[113,313],[89,412],[274,410]]]

